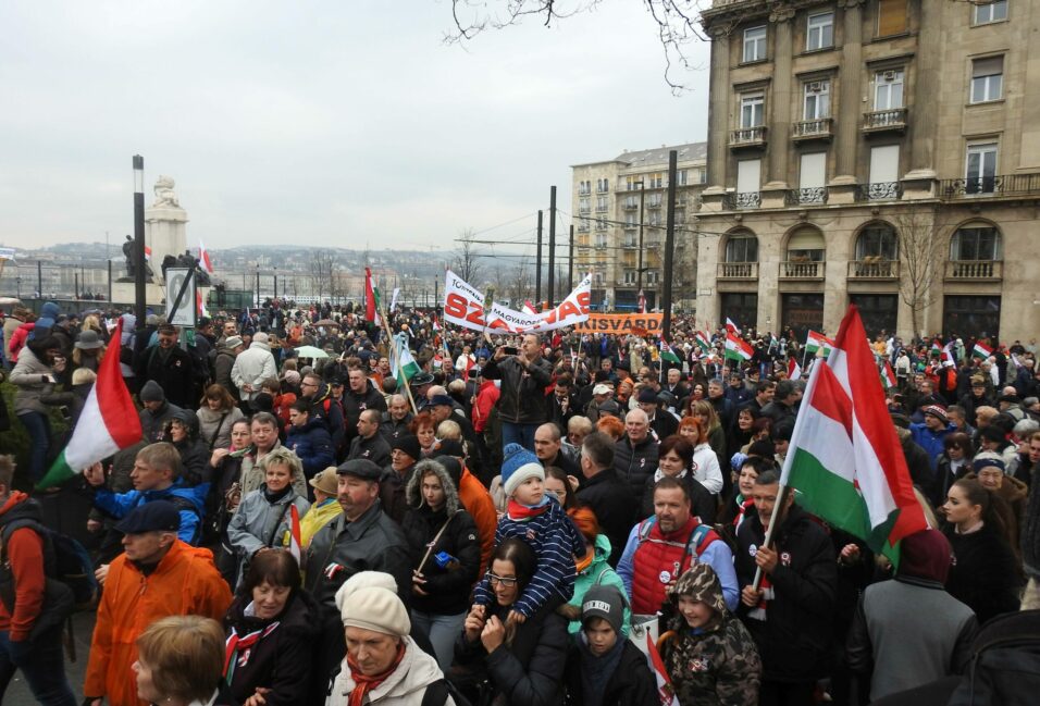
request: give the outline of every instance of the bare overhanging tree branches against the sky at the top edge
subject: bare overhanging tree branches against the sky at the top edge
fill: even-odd
[[[461,44],[487,29],[503,29],[535,17],[546,27],[560,20],[589,12],[603,0],[451,0],[455,30],[445,35],[447,44]],[[691,69],[686,57],[693,41],[706,41],[701,28],[702,10],[711,7],[710,0],[643,0],[643,7],[657,24],[657,34],[665,53],[665,80],[673,90],[683,84],[673,78],[673,69]]]

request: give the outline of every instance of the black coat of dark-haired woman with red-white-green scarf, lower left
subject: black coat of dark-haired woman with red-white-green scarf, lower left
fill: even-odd
[[[239,636],[246,635],[273,622],[245,617],[243,611],[251,600],[251,596],[235,597],[224,618],[228,634],[235,628]],[[309,689],[318,616],[318,604],[310,594],[297,591],[277,616],[278,627],[252,646],[245,665],[235,666],[231,682],[235,701],[245,703],[258,686],[264,686],[271,690],[264,695],[268,706],[300,703],[301,695]]]

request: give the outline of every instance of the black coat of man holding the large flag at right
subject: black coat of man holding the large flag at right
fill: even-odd
[[[760,546],[764,536],[758,513],[747,513],[736,531],[734,553],[741,590],[755,579],[751,547]],[[773,546],[781,559],[769,575],[776,598],[768,602],[766,620],[748,618],[743,603],[738,615],[758,645],[763,681],[816,681],[827,673],[832,652],[838,593],[834,547],[827,533],[797,505],[791,506],[780,523]]]

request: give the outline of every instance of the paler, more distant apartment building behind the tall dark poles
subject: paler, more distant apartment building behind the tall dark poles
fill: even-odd
[[[668,209],[668,153],[678,153],[672,301],[693,308],[696,241],[690,218],[707,181],[707,144],[666,146],[571,166],[575,272],[592,272],[596,309],[647,309],[660,301]],[[642,276],[641,276],[642,274]]]

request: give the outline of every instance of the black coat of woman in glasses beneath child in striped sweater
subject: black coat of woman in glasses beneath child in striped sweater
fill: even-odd
[[[504,643],[490,654],[480,640],[471,643],[463,632],[455,643],[455,665],[471,678],[487,678],[493,695],[505,705],[559,705],[568,634],[567,619],[556,614],[556,605],[550,600],[543,606],[517,627],[511,645]],[[505,623],[508,608],[493,605],[488,611]]]

